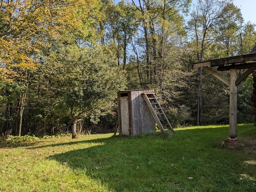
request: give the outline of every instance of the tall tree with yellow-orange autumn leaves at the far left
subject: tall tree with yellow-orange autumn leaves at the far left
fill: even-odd
[[[76,31],[79,32],[79,36],[84,36],[82,31],[86,30],[78,30],[83,29],[79,24],[86,23],[84,19],[93,2],[94,0],[1,0],[0,80],[18,82],[25,85],[28,90],[31,74],[45,60],[48,53],[46,50],[53,46],[49,39],[68,40],[67,36],[78,34]],[[73,33],[70,35],[72,30]],[[69,40],[71,39],[74,40]],[[16,116],[19,117],[19,136],[26,90],[20,93],[20,98],[16,101],[19,109],[16,110]]]

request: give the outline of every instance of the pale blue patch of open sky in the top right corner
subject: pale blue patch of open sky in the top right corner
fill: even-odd
[[[233,3],[241,9],[244,22],[256,24],[256,0],[233,0]]]

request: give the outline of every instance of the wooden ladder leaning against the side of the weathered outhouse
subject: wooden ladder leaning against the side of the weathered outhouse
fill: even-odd
[[[164,114],[164,111],[160,106],[155,94],[144,93],[142,94],[142,96],[144,97],[146,103],[148,104],[148,108],[150,109],[160,131],[164,133],[164,126],[166,126],[169,130],[171,130],[172,134],[174,134],[174,130],[172,129],[170,122],[168,121],[166,115]]]

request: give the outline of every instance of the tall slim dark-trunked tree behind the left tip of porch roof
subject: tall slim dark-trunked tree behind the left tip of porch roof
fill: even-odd
[[[205,59],[205,50],[216,40],[214,28],[220,19],[223,3],[218,0],[198,0],[196,9],[190,13],[189,26],[193,28],[197,62]],[[198,68],[197,119],[196,124],[202,125],[202,68]]]

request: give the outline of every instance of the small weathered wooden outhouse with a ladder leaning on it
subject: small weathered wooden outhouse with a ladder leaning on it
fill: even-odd
[[[119,135],[135,136],[156,130],[156,120],[142,94],[153,89],[127,90],[118,92]]]

